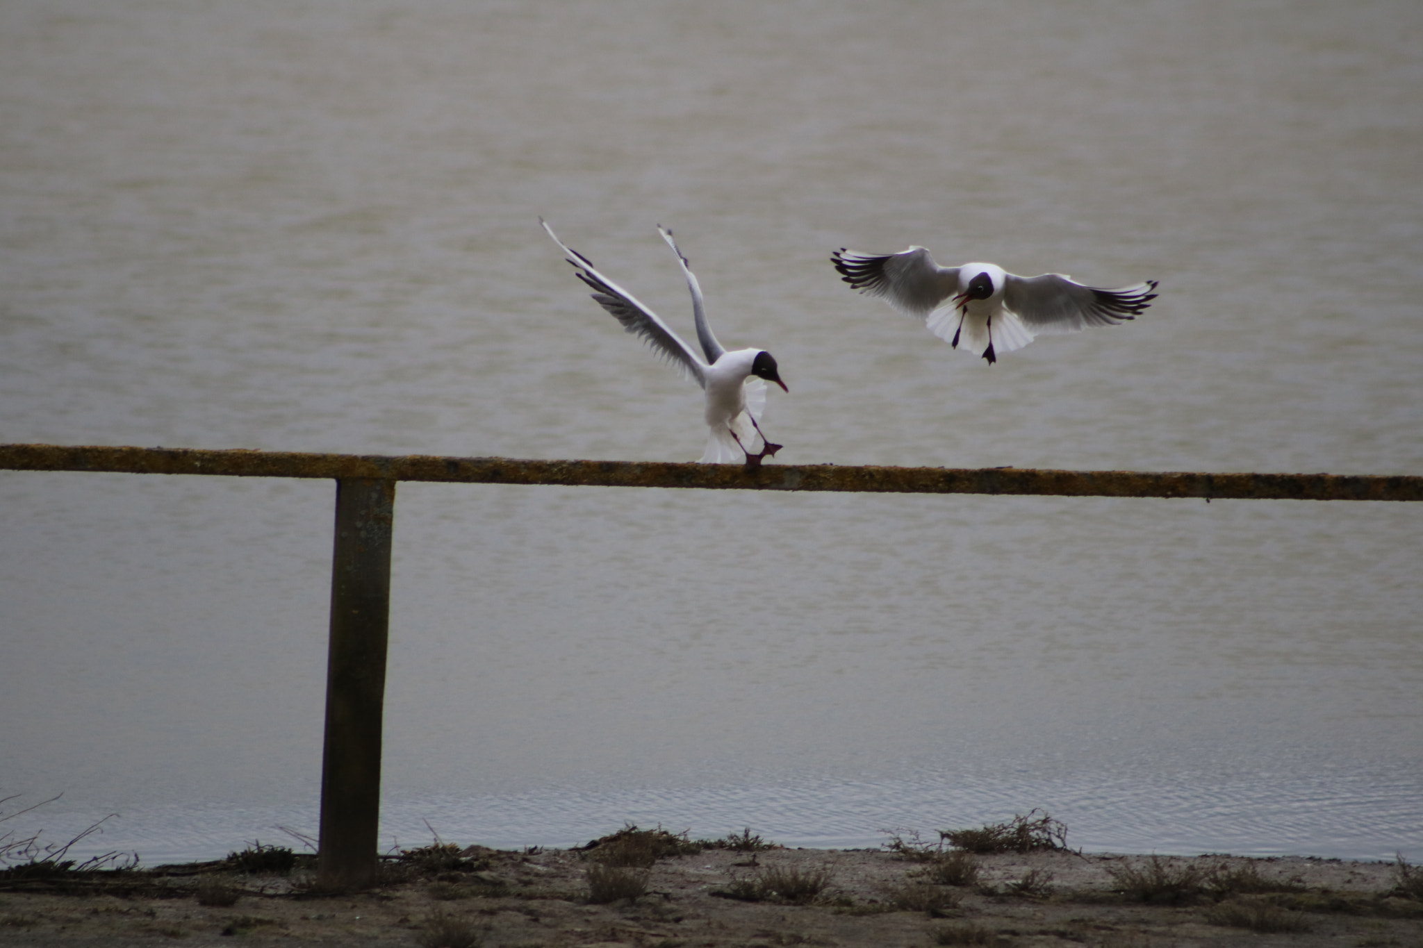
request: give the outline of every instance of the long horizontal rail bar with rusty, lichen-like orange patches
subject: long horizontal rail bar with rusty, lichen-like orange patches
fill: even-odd
[[[1067,497],[1204,497],[1211,500],[1423,500],[1423,476],[1328,473],[1192,473],[1035,470],[1019,468],[885,468],[840,465],[700,465],[633,460],[519,460],[428,455],[323,455],[287,451],[199,451],[0,445],[0,469],[231,478],[377,478],[447,483],[704,490],[845,490],[990,493]]]

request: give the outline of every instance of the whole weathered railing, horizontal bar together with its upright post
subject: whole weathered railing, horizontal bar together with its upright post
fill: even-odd
[[[1423,476],[1151,473],[626,460],[517,460],[182,448],[0,445],[0,470],[336,480],[317,885],[376,877],[396,482],[706,490],[988,493],[1205,500],[1423,500]]]

